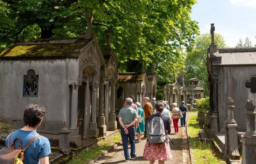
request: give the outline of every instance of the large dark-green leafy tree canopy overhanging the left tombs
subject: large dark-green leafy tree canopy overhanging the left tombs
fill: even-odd
[[[93,9],[93,28],[101,47],[108,28],[118,62],[144,60],[147,70],[154,62],[160,80],[167,82],[184,67],[184,52],[192,49],[198,33],[197,22],[190,17],[195,2],[0,0],[1,46],[19,39],[77,37],[86,30],[86,11]]]

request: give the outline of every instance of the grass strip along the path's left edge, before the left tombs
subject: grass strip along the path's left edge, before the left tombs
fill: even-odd
[[[96,147],[90,148],[88,151],[74,156],[73,159],[68,162],[68,164],[85,164],[101,155],[104,151],[108,150],[119,141],[121,141],[120,133],[117,133],[106,140],[100,140]]]

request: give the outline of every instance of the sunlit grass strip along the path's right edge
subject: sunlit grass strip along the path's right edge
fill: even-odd
[[[196,115],[189,118],[188,124],[195,164],[226,164],[225,160],[220,158],[218,153],[214,151],[214,145],[211,142],[205,143],[200,141],[199,124],[196,121]]]

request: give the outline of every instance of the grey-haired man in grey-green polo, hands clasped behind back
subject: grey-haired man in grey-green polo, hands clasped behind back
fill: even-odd
[[[120,131],[124,148],[125,161],[136,159],[135,155],[135,124],[138,121],[138,114],[132,108],[132,99],[125,99],[125,107],[122,108],[118,114],[118,121],[120,123]],[[131,156],[128,150],[128,138],[131,144]]]

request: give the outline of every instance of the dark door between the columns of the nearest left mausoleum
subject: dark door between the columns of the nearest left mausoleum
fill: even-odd
[[[82,86],[78,89],[78,119],[77,126],[79,135],[83,138],[83,130],[84,130],[84,101],[85,101],[85,87],[86,83],[82,83]]]

